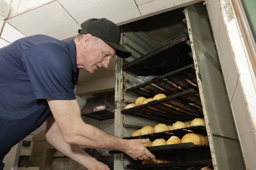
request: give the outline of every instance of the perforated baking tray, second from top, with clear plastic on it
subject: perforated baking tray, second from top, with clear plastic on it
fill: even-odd
[[[145,98],[153,98],[156,94],[163,93],[170,96],[189,89],[199,92],[194,64],[128,88],[125,92],[136,93]]]

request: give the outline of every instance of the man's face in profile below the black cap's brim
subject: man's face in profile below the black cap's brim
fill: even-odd
[[[108,68],[109,60],[115,56],[116,50],[101,39],[96,43],[94,40],[90,43],[90,46],[83,51],[83,63],[78,65],[78,68],[83,68],[92,74],[100,67]]]

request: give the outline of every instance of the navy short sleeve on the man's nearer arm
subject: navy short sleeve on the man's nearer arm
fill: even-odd
[[[66,48],[54,43],[36,45],[22,52],[22,61],[35,99],[76,99]]]

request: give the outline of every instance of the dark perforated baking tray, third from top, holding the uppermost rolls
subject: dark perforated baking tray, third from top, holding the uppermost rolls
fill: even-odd
[[[198,96],[198,92],[189,89],[160,100],[124,109],[121,113],[167,123],[191,121],[194,118],[203,118],[201,100]]]

